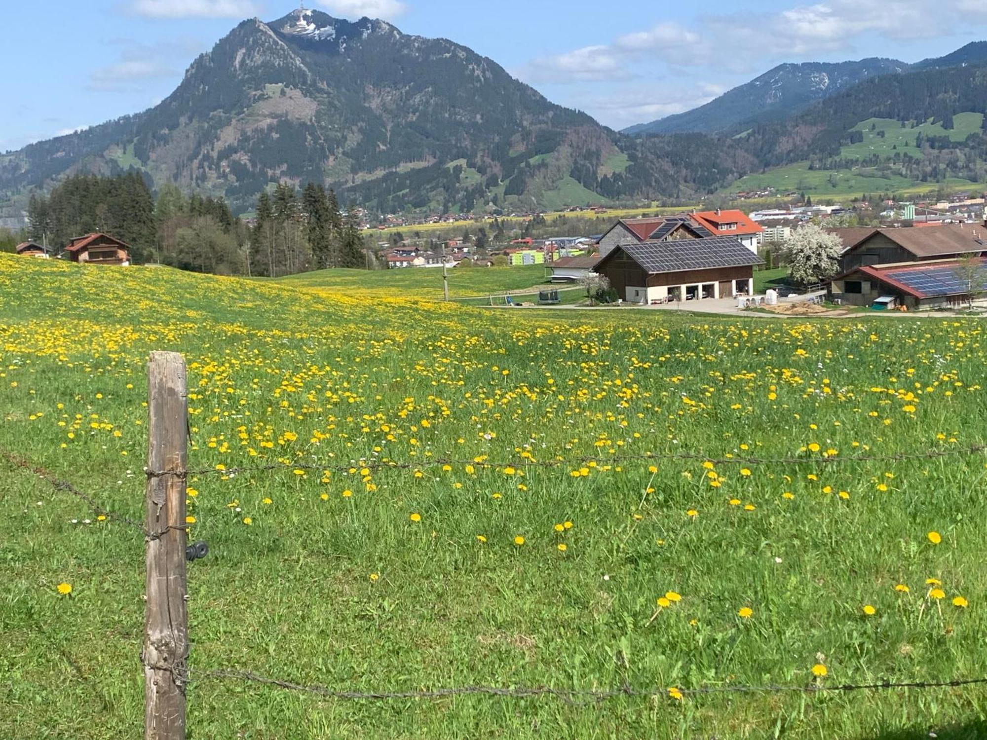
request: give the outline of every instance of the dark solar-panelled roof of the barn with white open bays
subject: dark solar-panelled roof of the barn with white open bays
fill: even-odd
[[[650,274],[716,267],[743,267],[764,263],[763,259],[740,244],[736,237],[730,236],[622,244],[617,249],[627,253],[628,257],[638,262]],[[617,250],[614,250],[610,255],[616,252]],[[601,261],[598,266],[602,264]]]

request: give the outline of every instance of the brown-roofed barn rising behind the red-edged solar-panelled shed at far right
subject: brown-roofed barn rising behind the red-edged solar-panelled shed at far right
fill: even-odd
[[[873,229],[840,255],[840,272],[861,266],[987,253],[987,230],[970,224]]]

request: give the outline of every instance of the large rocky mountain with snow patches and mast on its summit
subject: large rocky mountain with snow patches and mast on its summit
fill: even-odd
[[[136,169],[241,212],[279,180],[382,212],[528,209],[691,197],[753,166],[710,149],[622,136],[444,38],[295,11],[241,23],[149,111],[0,155],[0,196]]]

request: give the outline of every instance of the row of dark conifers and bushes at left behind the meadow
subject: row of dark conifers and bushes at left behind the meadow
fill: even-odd
[[[155,193],[145,177],[74,175],[28,203],[30,239],[59,255],[73,238],[104,232],[130,246],[135,263],[227,275],[277,276],[325,267],[373,267],[353,208],[309,183],[278,183],[257,200],[256,219],[234,216],[222,197],[186,194],[177,185]],[[14,241],[8,235],[6,241]],[[5,249],[9,249],[6,244]]]

